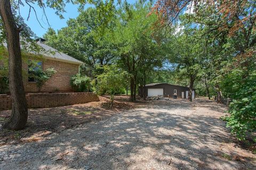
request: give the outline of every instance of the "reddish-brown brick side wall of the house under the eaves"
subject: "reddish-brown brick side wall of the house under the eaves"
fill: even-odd
[[[60,62],[55,60],[47,60],[45,58],[39,58],[39,61],[43,62],[43,70],[48,68],[54,68],[57,71],[52,77],[46,81],[41,89],[41,92],[52,91],[73,91],[70,86],[70,78],[78,73],[78,64]],[[28,82],[28,60],[22,60],[23,70],[23,84],[26,92],[37,92],[35,82]]]

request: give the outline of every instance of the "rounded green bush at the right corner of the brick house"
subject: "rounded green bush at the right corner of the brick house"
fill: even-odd
[[[71,87],[76,92],[90,91],[91,79],[85,75],[76,74],[70,79]]]

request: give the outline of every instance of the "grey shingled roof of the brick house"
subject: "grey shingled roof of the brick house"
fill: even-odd
[[[61,53],[57,49],[54,49],[42,43],[42,41],[37,41],[37,44],[46,50],[47,54],[43,55],[45,58],[48,58],[50,60],[58,60],[62,62],[74,63],[74,64],[83,64],[83,62],[76,60],[76,58],[73,58],[67,54]]]

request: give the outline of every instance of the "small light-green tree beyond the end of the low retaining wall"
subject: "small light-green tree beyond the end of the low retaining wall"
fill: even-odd
[[[128,74],[127,72],[118,69],[115,65],[105,66],[105,72],[98,76],[96,90],[98,95],[110,95],[111,108],[114,103],[114,95],[117,91],[126,87]]]

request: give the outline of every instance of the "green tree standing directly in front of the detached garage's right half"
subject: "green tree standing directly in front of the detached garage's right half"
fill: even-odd
[[[189,79],[188,98],[192,101],[194,82],[199,77],[204,61],[202,44],[196,43],[198,36],[196,28],[185,28],[180,35],[170,40],[170,62],[176,65],[181,77]],[[175,40],[175,41],[174,41]]]

